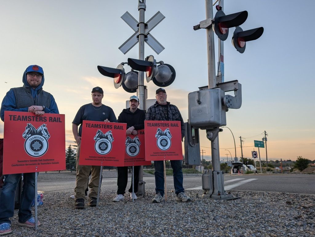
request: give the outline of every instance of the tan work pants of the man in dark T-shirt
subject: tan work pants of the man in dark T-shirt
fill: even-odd
[[[100,166],[81,166],[79,165],[79,154],[80,154],[80,146],[78,144],[77,155],[76,155],[76,167],[77,167],[77,176],[76,176],[76,187],[74,189],[75,195],[74,198],[77,200],[78,198],[85,198],[85,189],[89,182],[89,174],[91,173],[91,179],[89,182],[89,197],[97,198],[99,181],[100,181]]]

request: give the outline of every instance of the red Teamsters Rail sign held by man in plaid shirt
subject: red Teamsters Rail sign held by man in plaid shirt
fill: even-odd
[[[146,161],[182,160],[180,121],[144,121]]]

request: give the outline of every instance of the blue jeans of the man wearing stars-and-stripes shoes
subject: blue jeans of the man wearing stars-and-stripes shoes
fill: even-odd
[[[14,197],[21,174],[6,174],[0,195],[0,224],[10,223],[14,215]],[[19,222],[26,222],[31,216],[31,205],[35,197],[35,173],[23,174],[23,188],[19,208]]]

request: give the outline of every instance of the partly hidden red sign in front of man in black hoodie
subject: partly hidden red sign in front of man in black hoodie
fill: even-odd
[[[149,166],[146,161],[144,129],[138,130],[137,135],[128,135],[125,142],[125,160],[123,166]]]

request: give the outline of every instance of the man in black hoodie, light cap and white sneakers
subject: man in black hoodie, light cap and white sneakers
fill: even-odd
[[[146,117],[143,110],[138,109],[139,106],[139,98],[138,96],[131,96],[129,100],[129,106],[128,109],[123,109],[123,111],[118,116],[117,121],[119,123],[127,123],[127,130],[126,135],[136,135],[138,132],[137,130],[144,129],[144,119]],[[139,170],[140,166],[134,167],[134,180],[135,180],[135,187],[134,187],[134,193],[132,192],[132,180],[131,180],[131,186],[128,190],[130,193],[130,199],[137,199],[137,196],[135,195],[136,192],[138,192],[138,183],[139,183]],[[117,178],[117,196],[113,199],[114,202],[118,202],[120,200],[124,199],[125,190],[128,183],[128,166],[124,167],[117,167],[118,171],[118,178]]]

